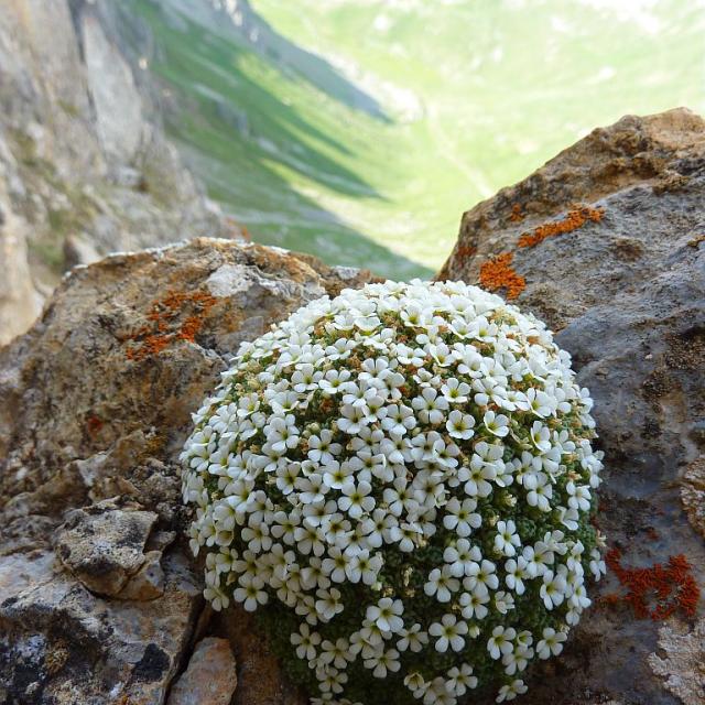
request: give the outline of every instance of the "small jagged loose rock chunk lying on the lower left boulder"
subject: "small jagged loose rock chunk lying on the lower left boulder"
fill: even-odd
[[[154,512],[124,511],[111,502],[75,509],[68,512],[58,531],[56,554],[89,590],[107,596],[122,593],[122,597],[135,599],[126,595],[123,588],[129,587],[128,581],[132,576],[131,584],[134,583],[135,574],[147,560],[144,546],[155,521]],[[156,553],[159,565],[161,553]],[[143,575],[141,583],[149,581],[150,577]],[[134,584],[131,592],[139,589]]]

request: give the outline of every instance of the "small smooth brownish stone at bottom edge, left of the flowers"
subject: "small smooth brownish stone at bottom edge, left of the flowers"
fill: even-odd
[[[174,683],[167,705],[229,705],[238,684],[227,639],[199,641],[188,668]]]

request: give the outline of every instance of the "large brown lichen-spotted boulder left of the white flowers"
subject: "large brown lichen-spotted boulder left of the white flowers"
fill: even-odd
[[[164,703],[210,636],[236,704],[302,702],[249,616],[204,609],[177,455],[242,339],[370,279],[198,239],[75,269],[0,350],[0,702]]]

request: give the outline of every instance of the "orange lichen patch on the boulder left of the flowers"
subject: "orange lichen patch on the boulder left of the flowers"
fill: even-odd
[[[175,340],[194,343],[204,316],[215,303],[215,296],[203,291],[167,292],[164,299],[153,302],[147,314],[150,323],[129,336],[132,345],[127,351],[128,359],[141,360],[158,355]],[[182,318],[184,313],[188,315]]]

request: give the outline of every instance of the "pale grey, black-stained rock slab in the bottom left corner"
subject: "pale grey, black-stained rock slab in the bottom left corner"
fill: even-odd
[[[182,554],[165,560],[161,598],[100,598],[52,553],[0,558],[0,694],[7,703],[158,705],[200,606]],[[3,585],[3,573],[21,579]]]

